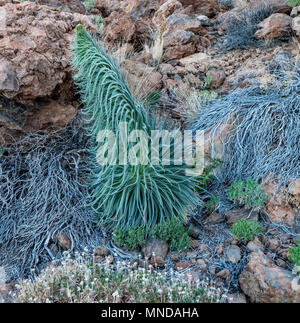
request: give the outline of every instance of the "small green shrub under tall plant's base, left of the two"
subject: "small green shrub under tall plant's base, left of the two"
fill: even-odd
[[[135,250],[146,243],[146,231],[143,227],[118,228],[113,239],[120,247],[126,250]]]

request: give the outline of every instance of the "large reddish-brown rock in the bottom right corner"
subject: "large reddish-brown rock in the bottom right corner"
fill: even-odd
[[[299,303],[297,277],[274,264],[261,251],[251,253],[239,282],[241,289],[255,303]]]

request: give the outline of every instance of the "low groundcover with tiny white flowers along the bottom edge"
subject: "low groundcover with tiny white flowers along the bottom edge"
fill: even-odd
[[[94,265],[85,255],[65,256],[34,281],[21,281],[15,296],[17,303],[212,303],[226,297],[179,273],[167,279],[126,263]]]

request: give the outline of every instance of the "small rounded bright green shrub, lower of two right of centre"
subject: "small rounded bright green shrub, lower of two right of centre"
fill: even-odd
[[[260,224],[255,220],[240,219],[234,223],[231,232],[242,240],[253,240],[256,234],[261,232]]]

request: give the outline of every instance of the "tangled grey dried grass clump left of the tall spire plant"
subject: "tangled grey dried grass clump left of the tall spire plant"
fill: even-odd
[[[54,235],[66,233],[72,248],[101,240],[87,205],[80,120],[52,133],[29,134],[0,158],[0,266],[8,280],[31,274],[55,255]]]

